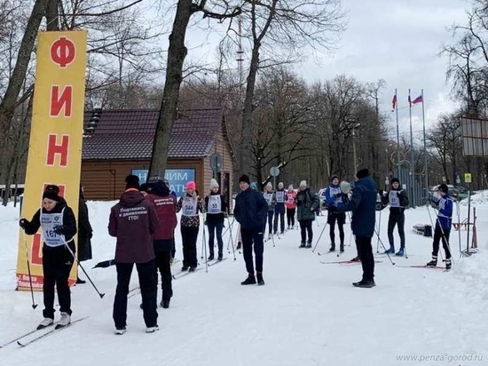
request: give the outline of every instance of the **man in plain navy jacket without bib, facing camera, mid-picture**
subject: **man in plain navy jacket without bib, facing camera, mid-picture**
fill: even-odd
[[[234,217],[240,223],[242,251],[248,270],[248,278],[240,284],[264,285],[263,280],[263,232],[266,225],[268,203],[264,196],[249,187],[249,177],[243,174],[239,179],[240,194],[235,197]],[[253,266],[253,242],[256,255],[256,276]]]

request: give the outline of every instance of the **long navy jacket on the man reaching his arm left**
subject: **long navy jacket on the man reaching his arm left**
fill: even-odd
[[[373,237],[376,197],[376,184],[370,176],[366,176],[355,183],[350,202],[337,208],[338,212],[352,211],[351,227],[354,235]]]

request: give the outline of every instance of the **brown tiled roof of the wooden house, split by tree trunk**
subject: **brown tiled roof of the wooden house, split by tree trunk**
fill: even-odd
[[[85,111],[85,131],[94,111]],[[83,138],[83,159],[146,159],[153,152],[158,109],[98,111],[97,127]],[[180,111],[169,140],[169,158],[209,156],[223,125],[221,108]]]

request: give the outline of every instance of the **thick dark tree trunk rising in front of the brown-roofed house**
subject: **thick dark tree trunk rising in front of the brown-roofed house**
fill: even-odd
[[[185,35],[192,16],[192,0],[179,0],[173,29],[169,35],[166,80],[161,109],[153,142],[153,155],[147,178],[164,174],[166,170],[171,127],[177,118],[179,88],[183,81],[183,63],[186,57]]]

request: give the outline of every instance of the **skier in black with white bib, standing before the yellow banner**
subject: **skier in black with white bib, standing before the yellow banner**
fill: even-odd
[[[43,207],[35,212],[30,221],[20,219],[19,225],[27,235],[34,235],[39,227],[42,230],[44,319],[37,329],[43,329],[54,322],[55,287],[61,312],[56,328],[64,327],[71,322],[72,313],[68,278],[75,260],[75,214],[64,198],[59,196],[59,187],[50,185],[43,192]]]

